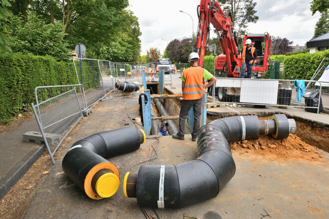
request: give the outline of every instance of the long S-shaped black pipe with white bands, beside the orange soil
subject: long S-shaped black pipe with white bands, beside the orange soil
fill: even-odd
[[[294,130],[290,124],[293,126],[295,122],[288,122],[287,129],[288,119],[284,116],[274,115],[275,133],[271,129],[272,133],[268,134],[282,137]],[[272,125],[273,121],[267,123]],[[179,209],[215,198],[235,174],[229,142],[258,139],[264,127],[264,122],[255,115],[214,120],[198,132],[197,159],[178,165],[144,165],[137,176],[128,172],[124,194],[133,198],[136,190],[140,207],[161,209]],[[136,188],[132,188],[135,185]]]

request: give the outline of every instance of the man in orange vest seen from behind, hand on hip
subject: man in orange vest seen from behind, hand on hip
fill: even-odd
[[[212,86],[217,80],[204,68],[197,65],[199,55],[196,52],[192,52],[188,56],[188,61],[192,67],[183,70],[181,77],[181,90],[183,91],[183,101],[179,112],[179,131],[177,134],[173,134],[172,137],[179,140],[184,140],[185,134],[185,119],[188,111],[193,107],[194,111],[194,125],[193,131],[191,131],[192,141],[196,141],[197,132],[200,129],[201,121],[201,104],[203,100],[204,90]],[[210,80],[205,85],[204,79]]]

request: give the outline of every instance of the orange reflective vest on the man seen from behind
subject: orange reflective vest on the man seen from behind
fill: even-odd
[[[204,69],[199,66],[183,70],[185,79],[183,100],[197,100],[203,96],[205,90],[203,73]]]

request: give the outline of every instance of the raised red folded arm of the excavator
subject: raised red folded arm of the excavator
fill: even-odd
[[[233,73],[239,64],[237,59],[236,37],[233,35],[231,13],[225,14],[216,0],[201,0],[198,5],[199,26],[196,38],[196,52],[200,59],[198,66],[202,67],[205,47],[208,43],[210,23],[215,27],[218,40],[226,56],[227,76],[233,77]],[[220,34],[219,31],[222,31]]]

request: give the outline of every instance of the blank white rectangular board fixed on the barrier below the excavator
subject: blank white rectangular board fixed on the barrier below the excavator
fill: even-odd
[[[241,103],[277,104],[279,81],[242,80]]]

